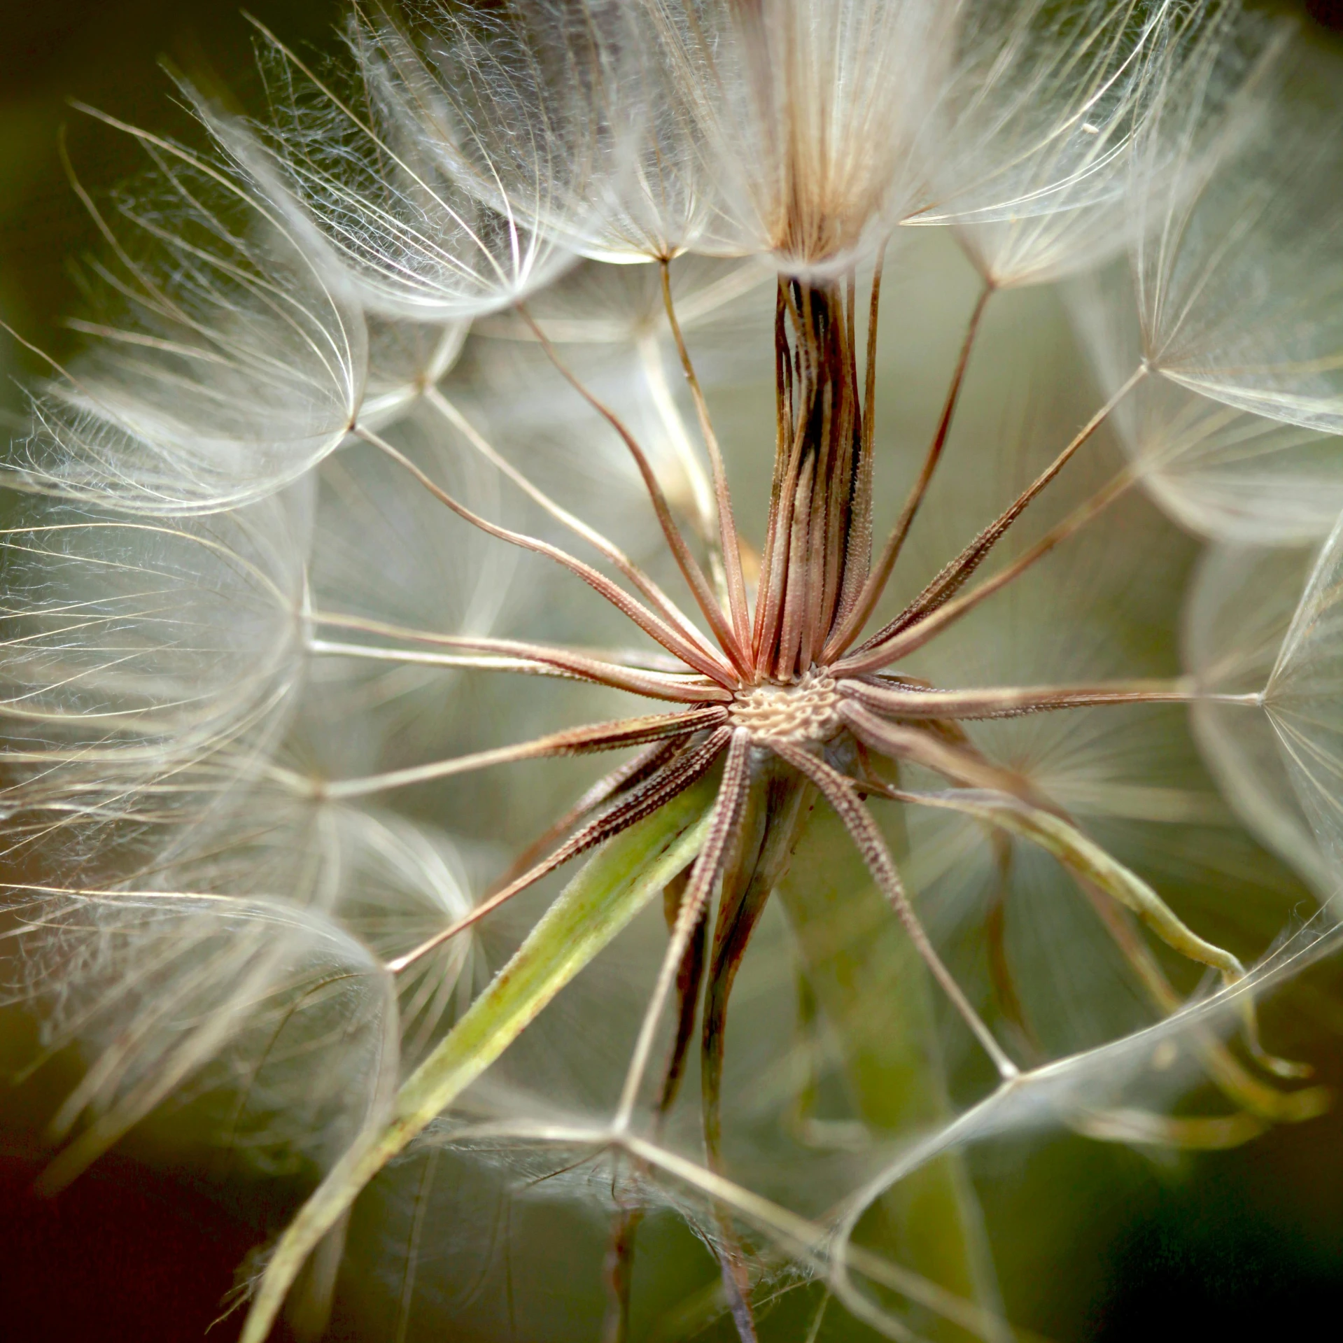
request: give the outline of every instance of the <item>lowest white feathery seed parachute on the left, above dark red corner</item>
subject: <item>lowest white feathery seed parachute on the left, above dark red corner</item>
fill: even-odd
[[[23,892],[20,890],[20,898]],[[263,1167],[333,1159],[395,1086],[391,976],[326,916],[279,898],[42,890],[27,988],[47,1048],[87,1072],[52,1123],[59,1187],[169,1096],[195,1140]]]

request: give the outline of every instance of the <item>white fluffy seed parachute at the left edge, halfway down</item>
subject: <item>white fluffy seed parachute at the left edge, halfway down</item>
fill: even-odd
[[[0,539],[19,834],[87,860],[107,839],[86,831],[185,804],[183,768],[266,749],[302,670],[310,524],[304,485],[172,522],[19,497]]]

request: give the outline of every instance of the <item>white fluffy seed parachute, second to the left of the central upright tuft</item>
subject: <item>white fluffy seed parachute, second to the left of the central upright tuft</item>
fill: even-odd
[[[441,39],[427,51],[355,20],[359,77],[341,87],[271,39],[277,120],[247,129],[212,117],[333,281],[373,312],[426,322],[508,306],[553,279],[571,259],[556,238],[565,211],[587,208],[586,173],[600,171],[587,142],[492,120],[501,90],[490,93],[470,32],[450,26]],[[535,73],[524,66],[522,78]],[[509,157],[496,172],[498,153]]]

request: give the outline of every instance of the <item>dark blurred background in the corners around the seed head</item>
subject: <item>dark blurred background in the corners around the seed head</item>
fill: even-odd
[[[340,0],[254,0],[291,43],[334,46]],[[1287,5],[1287,8],[1292,8]],[[1300,8],[1300,7],[1297,7]],[[1308,5],[1343,30],[1343,3]],[[1311,21],[1311,20],[1307,20]],[[246,101],[254,90],[250,28],[235,0],[0,0],[0,318],[59,353],[60,317],[78,304],[71,258],[94,228],[62,165],[106,188],[133,173],[140,153],[75,111],[70,99],[158,130],[185,129],[167,59]],[[0,333],[0,342],[8,341]],[[20,373],[40,363],[0,344]],[[5,380],[0,406],[16,414]],[[1343,1088],[1343,972],[1323,968],[1277,1014],[1289,1056],[1312,1058]],[[0,1338],[11,1343],[199,1339],[234,1270],[274,1223],[285,1193],[193,1189],[132,1158],[99,1163],[55,1201],[31,1191],[20,1100],[0,1092]],[[1308,1339],[1334,1336],[1343,1301],[1343,1116],[1268,1133],[1250,1147],[1154,1162],[1121,1148],[1097,1185],[1095,1148],[1081,1139],[1041,1147],[1070,1215],[1041,1218],[1038,1240],[1005,1246],[1013,1272],[1037,1275],[1029,1323],[1054,1338]],[[1069,1183],[1069,1172],[1076,1179]],[[1021,1171],[1021,1189],[1039,1182]],[[1011,1203],[1013,1179],[991,1195]],[[210,1334],[228,1339],[236,1317]],[[537,1340],[544,1343],[544,1340]]]

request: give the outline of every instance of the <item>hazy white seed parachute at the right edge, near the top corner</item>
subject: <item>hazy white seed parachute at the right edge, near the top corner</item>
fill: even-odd
[[[1139,161],[1176,154],[1136,215],[1143,353],[1240,410],[1343,430],[1343,102],[1281,34],[1171,83]],[[1288,93],[1289,91],[1289,93]],[[1207,111],[1217,109],[1209,129]]]

